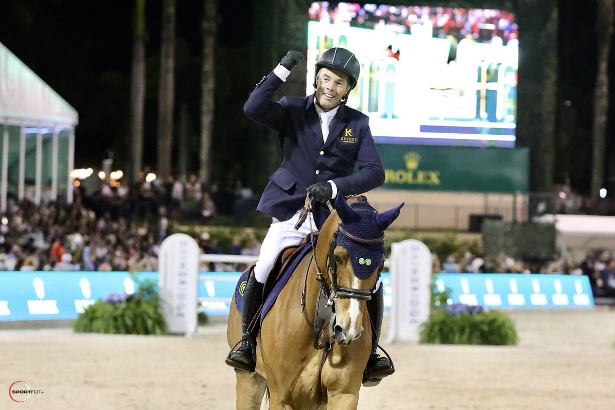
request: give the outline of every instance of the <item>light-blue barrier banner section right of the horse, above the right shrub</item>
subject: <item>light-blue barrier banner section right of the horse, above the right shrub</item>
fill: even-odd
[[[435,277],[438,290],[451,290],[453,303],[494,309],[594,306],[586,276],[436,274]]]

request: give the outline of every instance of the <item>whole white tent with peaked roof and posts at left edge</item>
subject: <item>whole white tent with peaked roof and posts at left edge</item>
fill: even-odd
[[[30,175],[34,202],[41,203],[44,184],[49,199],[58,199],[58,188],[65,187],[66,202],[73,202],[69,173],[78,122],[77,111],[0,43],[0,211],[6,210],[9,192],[20,200],[26,196]]]

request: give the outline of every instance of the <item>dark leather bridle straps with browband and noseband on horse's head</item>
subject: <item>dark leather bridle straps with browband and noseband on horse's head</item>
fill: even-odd
[[[381,237],[374,239],[363,239],[359,238],[355,235],[352,235],[350,232],[346,231],[341,223],[338,224],[338,229],[333,234],[333,238],[331,238],[331,242],[329,243],[329,253],[327,258],[327,269],[329,272],[329,277],[331,278],[331,285],[327,286],[327,280],[325,276],[321,273],[317,273],[317,280],[320,283],[320,290],[327,298],[327,306],[333,305],[333,299],[342,298],[342,299],[360,299],[362,301],[369,301],[371,299],[371,290],[363,290],[363,289],[354,289],[347,288],[346,286],[338,285],[338,274],[337,274],[337,262],[335,261],[335,247],[338,245],[336,237],[338,232],[344,235],[347,239],[352,242],[361,243],[363,245],[371,245],[373,243],[382,242],[384,240],[384,234]],[[384,254],[380,261],[380,271],[383,267],[384,262]]]

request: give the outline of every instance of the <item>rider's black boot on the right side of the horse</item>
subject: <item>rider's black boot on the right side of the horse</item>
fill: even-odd
[[[367,302],[367,312],[370,315],[372,326],[371,334],[371,354],[363,372],[363,385],[366,387],[375,386],[380,383],[383,377],[393,374],[395,368],[391,360],[381,357],[376,352],[378,341],[380,340],[380,328],[383,325],[384,312],[383,285],[375,293],[371,294],[371,300]]]

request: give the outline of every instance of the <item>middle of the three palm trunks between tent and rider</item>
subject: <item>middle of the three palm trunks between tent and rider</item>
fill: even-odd
[[[162,42],[158,89],[158,166],[166,180],[171,172],[173,153],[173,104],[175,97],[175,0],[162,3]]]

